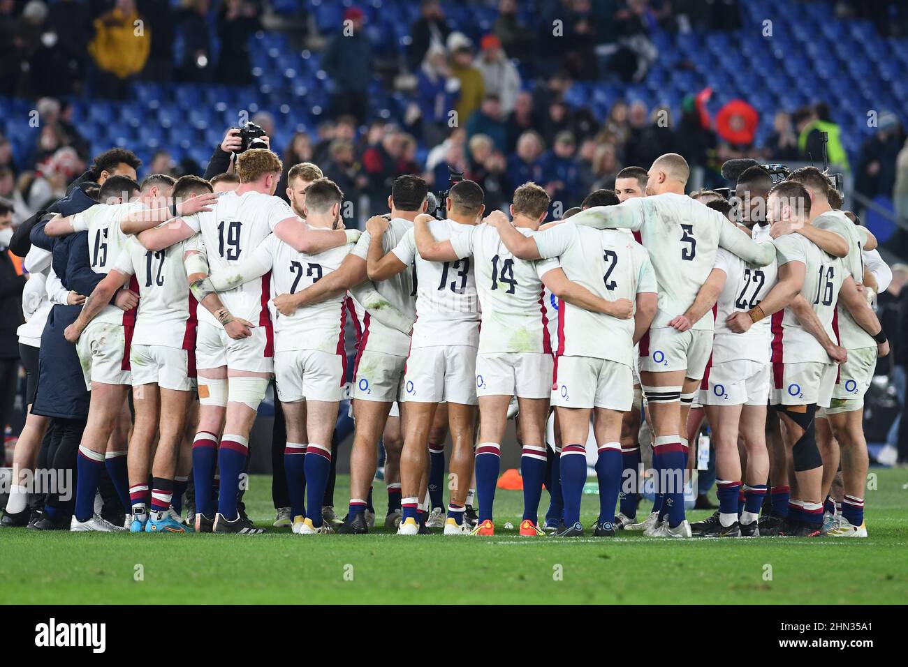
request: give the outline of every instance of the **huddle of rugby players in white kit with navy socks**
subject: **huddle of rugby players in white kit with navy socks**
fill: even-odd
[[[458,181],[438,220],[426,182],[407,175],[393,183],[390,212],[360,234],[344,228],[343,192],[315,165],[290,170],[290,205],[274,196],[273,152],[242,152],[236,169],[239,183],[218,191],[195,176],[140,186],[112,175],[103,203],[43,227],[56,239],[82,234],[74,242],[106,274],[64,331],[91,389],[71,530],[123,530],[96,513],[95,495],[132,391],[128,466],[114,478],[126,527],[264,533],[238,492],[273,378],[294,534],[369,532],[383,442],[386,525],[494,535],[501,443],[516,418],[519,535],[585,534],[590,428],[593,535],[867,535],[863,397],[888,353],[871,307],[887,269],[823,172],[774,182],[750,167],[733,207],[712,191],[686,195],[687,163],[667,153],[548,222],[552,202],[533,182],[514,191],[507,215]],[[348,378],[351,497],[335,526],[322,498]],[[691,525],[688,438],[703,413],[719,508]],[[638,516],[644,419],[656,493]],[[432,516],[439,428],[451,439],[449,504]],[[192,525],[173,509],[188,476]]]

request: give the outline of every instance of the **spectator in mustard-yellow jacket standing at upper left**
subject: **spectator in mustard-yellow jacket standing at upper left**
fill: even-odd
[[[132,77],[142,71],[148,60],[151,31],[146,27],[136,34],[138,20],[135,0],[116,0],[111,11],[94,20],[94,39],[88,44],[88,52],[100,70],[95,93],[101,97],[129,97]]]

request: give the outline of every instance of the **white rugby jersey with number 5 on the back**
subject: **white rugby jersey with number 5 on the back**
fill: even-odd
[[[658,309],[651,329],[664,329],[694,303],[700,287],[716,266],[721,246],[744,260],[765,265],[772,245],[761,248],[745,232],[728,224],[718,211],[684,194],[666,192],[636,197],[617,206],[595,206],[571,218],[576,224],[599,229],[624,228],[640,232],[659,286]],[[713,329],[712,312],[694,329]]]

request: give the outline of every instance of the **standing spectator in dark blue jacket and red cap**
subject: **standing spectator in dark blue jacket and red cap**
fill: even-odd
[[[372,45],[362,31],[366,15],[359,7],[343,14],[344,25],[335,34],[321,59],[334,86],[331,107],[335,115],[349,113],[366,120],[366,98],[372,81]]]

